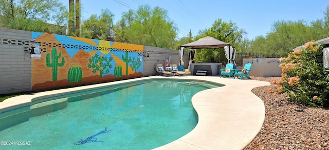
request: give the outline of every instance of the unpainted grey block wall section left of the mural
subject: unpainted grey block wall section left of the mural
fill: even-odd
[[[0,94],[31,91],[31,32],[0,28]]]

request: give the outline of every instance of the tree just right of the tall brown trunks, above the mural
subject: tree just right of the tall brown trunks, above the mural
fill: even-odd
[[[102,9],[101,15],[91,15],[82,24],[82,37],[107,40],[108,37],[113,37],[112,31],[114,14],[108,9]]]

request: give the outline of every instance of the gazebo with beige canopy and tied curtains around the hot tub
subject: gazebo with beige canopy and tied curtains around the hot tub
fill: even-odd
[[[207,72],[207,75],[216,76],[218,70],[218,67],[221,68],[222,63],[192,63],[194,54],[196,49],[206,49],[206,48],[224,48],[225,50],[225,56],[228,59],[227,63],[234,63],[235,65],[235,49],[228,44],[227,42],[215,39],[210,36],[206,36],[203,38],[200,38],[196,41],[190,42],[185,45],[180,46],[180,51],[184,51],[185,48],[190,48],[190,62],[189,62],[189,69],[191,70],[191,75],[194,75],[197,73],[197,71],[203,70],[203,71],[209,71]],[[182,56],[180,56],[182,57]],[[184,62],[182,62],[184,65]]]

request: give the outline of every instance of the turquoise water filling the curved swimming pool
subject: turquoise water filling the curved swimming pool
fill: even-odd
[[[0,131],[1,141],[9,141],[0,149],[156,148],[193,130],[192,96],[219,86],[162,80],[67,94],[64,109],[43,115],[32,110],[28,114],[39,116]]]

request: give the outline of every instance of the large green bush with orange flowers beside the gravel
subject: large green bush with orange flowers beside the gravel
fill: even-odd
[[[309,41],[300,50],[280,58],[281,78],[271,80],[277,87],[268,93],[286,93],[306,105],[329,106],[329,76],[323,68],[322,53],[321,45]]]

